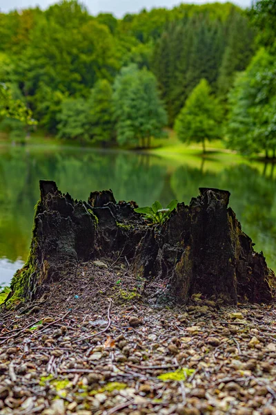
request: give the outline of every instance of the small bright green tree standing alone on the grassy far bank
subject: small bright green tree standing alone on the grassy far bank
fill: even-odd
[[[183,142],[202,142],[221,138],[221,107],[211,95],[206,80],[201,80],[192,91],[175,120],[175,131]]]

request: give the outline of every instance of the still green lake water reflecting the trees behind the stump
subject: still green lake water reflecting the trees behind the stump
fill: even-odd
[[[276,270],[276,180],[273,166],[210,154],[177,160],[118,151],[76,148],[0,147],[0,284],[28,257],[39,179],[61,192],[88,199],[90,191],[112,189],[115,199],[148,205],[172,199],[189,203],[199,187],[230,190],[230,206],[243,230]],[[276,169],[275,169],[276,171]]]

